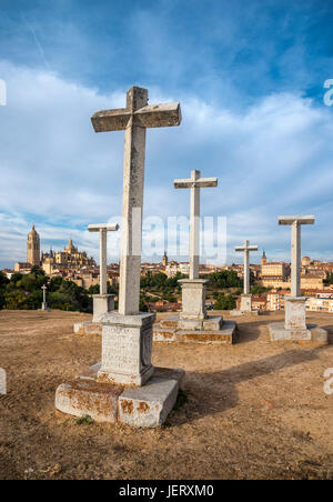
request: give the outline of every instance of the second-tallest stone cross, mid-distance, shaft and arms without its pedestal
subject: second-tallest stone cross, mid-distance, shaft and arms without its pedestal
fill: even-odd
[[[218,178],[201,178],[200,171],[191,171],[188,180],[174,180],[175,189],[191,189],[190,204],[190,280],[199,279],[200,260],[200,189],[218,187]]]

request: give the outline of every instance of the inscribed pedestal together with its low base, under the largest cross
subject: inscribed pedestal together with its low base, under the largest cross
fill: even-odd
[[[97,422],[162,425],[183,385],[184,371],[151,364],[154,319],[151,313],[101,317],[102,361],[59,385],[57,410],[90,415]]]

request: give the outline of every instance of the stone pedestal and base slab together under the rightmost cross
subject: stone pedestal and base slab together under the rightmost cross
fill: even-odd
[[[274,322],[270,324],[271,341],[294,341],[329,343],[329,333],[326,330],[315,324],[306,324],[305,301],[303,297],[290,297],[285,299],[284,324]]]

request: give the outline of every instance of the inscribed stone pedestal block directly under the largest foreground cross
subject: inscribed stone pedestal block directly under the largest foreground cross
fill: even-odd
[[[143,385],[153,374],[151,364],[152,327],[155,314],[101,318],[103,324],[102,365],[99,380],[127,385]]]

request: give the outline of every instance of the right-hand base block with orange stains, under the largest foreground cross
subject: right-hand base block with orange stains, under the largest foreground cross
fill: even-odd
[[[119,398],[119,421],[139,428],[162,425],[176,401],[175,379],[153,376],[143,386],[125,389]]]

